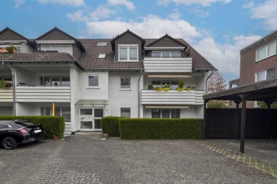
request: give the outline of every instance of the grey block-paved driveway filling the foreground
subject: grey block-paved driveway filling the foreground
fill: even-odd
[[[190,140],[69,136],[0,149],[1,183],[277,183]]]

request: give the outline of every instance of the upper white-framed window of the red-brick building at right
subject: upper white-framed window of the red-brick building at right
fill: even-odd
[[[256,51],[256,62],[271,57],[272,55],[276,55],[276,41],[271,42],[262,48],[258,48]]]

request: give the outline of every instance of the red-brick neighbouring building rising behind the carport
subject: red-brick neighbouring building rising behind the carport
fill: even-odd
[[[231,83],[239,81],[239,85],[242,86],[276,77],[276,40],[277,30],[242,48],[240,50],[240,78]],[[256,107],[256,102],[247,102],[247,107]]]

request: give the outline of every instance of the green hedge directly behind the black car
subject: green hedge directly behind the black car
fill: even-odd
[[[54,134],[58,138],[64,137],[65,123],[60,116],[0,116],[0,120],[29,120],[44,127],[46,138],[53,138]]]

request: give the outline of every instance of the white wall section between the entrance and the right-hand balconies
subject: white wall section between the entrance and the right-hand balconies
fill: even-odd
[[[109,116],[120,116],[120,107],[126,107],[131,108],[131,118],[138,118],[140,74],[140,71],[109,73]],[[120,89],[120,77],[131,77],[130,90]],[[141,78],[141,84],[142,81]]]

